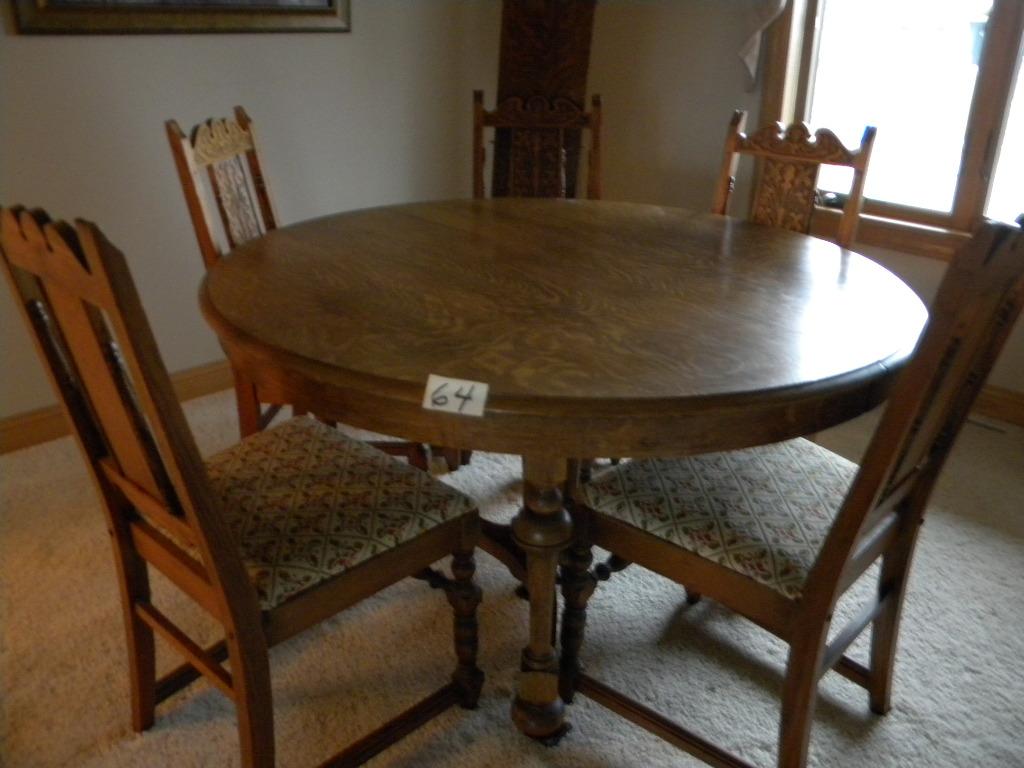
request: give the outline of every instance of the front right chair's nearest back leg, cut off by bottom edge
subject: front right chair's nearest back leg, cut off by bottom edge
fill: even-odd
[[[827,625],[819,633],[808,633],[816,634],[816,637],[798,640],[790,647],[790,660],[782,687],[779,768],[804,768],[807,765],[807,748],[818,694],[818,667],[821,664],[826,632]]]

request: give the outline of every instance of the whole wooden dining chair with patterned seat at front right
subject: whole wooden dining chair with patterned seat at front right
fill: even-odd
[[[590,696],[712,765],[748,765],[581,672],[596,583],[590,547],[597,545],[788,643],[779,766],[806,764],[817,684],[829,670],[865,688],[872,712],[888,712],[900,612],[928,499],[1022,304],[1024,236],[1019,227],[986,223],[949,265],[859,467],[796,439],[636,460],[575,488],[578,539],[561,572],[563,697]],[[839,599],[877,562],[873,594],[829,641]],[[868,627],[865,665],[846,650]]]

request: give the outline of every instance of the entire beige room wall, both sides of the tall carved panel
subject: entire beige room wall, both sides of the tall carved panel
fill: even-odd
[[[736,56],[756,3],[602,0],[590,90],[605,105],[606,198],[707,209],[731,111],[757,121]],[[470,92],[494,98],[500,0],[352,6],[342,35],[0,37],[0,204],[99,222],[129,257],[172,371],[221,353],[196,303],[202,265],[165,119],[245,104],[285,223],[469,195]],[[934,290],[941,264],[887,258]],[[1024,389],[1021,336],[992,383]],[[0,418],[53,401],[0,290]]]

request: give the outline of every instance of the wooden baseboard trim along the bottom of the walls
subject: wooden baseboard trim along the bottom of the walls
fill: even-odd
[[[225,360],[197,366],[171,376],[174,391],[182,401],[230,389],[231,369]],[[1004,387],[985,387],[974,404],[976,414],[1024,427],[1024,392]],[[68,434],[68,424],[58,406],[15,414],[0,419],[0,454],[55,440]]]

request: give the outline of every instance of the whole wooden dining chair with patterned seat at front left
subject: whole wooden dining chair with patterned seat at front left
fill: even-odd
[[[409,575],[447,595],[455,675],[332,765],[359,765],[452,705],[475,706],[478,519],[467,497],[306,417],[204,462],[124,256],[102,232],[0,209],[0,255],[102,501],[136,731],[203,677],[236,705],[243,765],[272,766],[267,648]],[[447,555],[453,579],[429,568]],[[151,569],[223,639],[204,648],[174,624],[154,602]],[[185,659],[160,678],[155,635]]]

